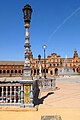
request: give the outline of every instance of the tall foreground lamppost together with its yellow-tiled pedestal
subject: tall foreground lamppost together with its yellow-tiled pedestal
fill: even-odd
[[[25,5],[23,8],[24,13],[24,27],[26,29],[25,37],[25,63],[23,68],[23,77],[19,82],[21,85],[21,107],[33,107],[33,80],[31,77],[31,68],[30,68],[30,41],[29,41],[29,28],[30,20],[32,14],[32,8],[29,4]]]

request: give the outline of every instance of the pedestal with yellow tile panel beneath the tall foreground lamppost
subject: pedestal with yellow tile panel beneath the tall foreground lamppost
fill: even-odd
[[[33,103],[33,80],[19,80],[23,88],[21,91],[21,105],[20,107],[34,107]]]

